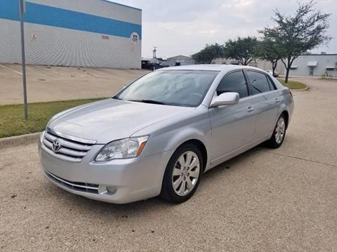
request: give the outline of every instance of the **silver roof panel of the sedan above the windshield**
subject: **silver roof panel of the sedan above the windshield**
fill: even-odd
[[[201,71],[219,71],[219,72],[229,72],[235,69],[255,69],[261,72],[265,72],[263,69],[257,67],[250,67],[244,65],[183,65],[178,67],[165,67],[158,69],[157,71],[168,71],[168,70],[201,70]]]

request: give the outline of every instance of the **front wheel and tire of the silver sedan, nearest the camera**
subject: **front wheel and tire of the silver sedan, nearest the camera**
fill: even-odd
[[[200,183],[202,168],[198,147],[192,144],[178,147],[166,166],[160,197],[174,204],[190,199]]]

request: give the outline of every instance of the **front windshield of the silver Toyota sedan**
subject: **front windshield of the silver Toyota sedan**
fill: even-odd
[[[146,74],[114,96],[119,100],[197,107],[218,71],[164,70]]]

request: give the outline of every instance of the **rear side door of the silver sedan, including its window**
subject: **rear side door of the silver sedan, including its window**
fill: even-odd
[[[275,84],[267,74],[251,69],[245,72],[255,103],[253,106],[256,110],[256,140],[262,140],[270,137],[275,128],[281,99]]]

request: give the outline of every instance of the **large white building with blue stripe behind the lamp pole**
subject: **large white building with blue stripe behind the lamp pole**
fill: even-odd
[[[0,63],[21,63],[19,1],[0,0]],[[27,64],[141,67],[142,11],[105,0],[27,0]]]

